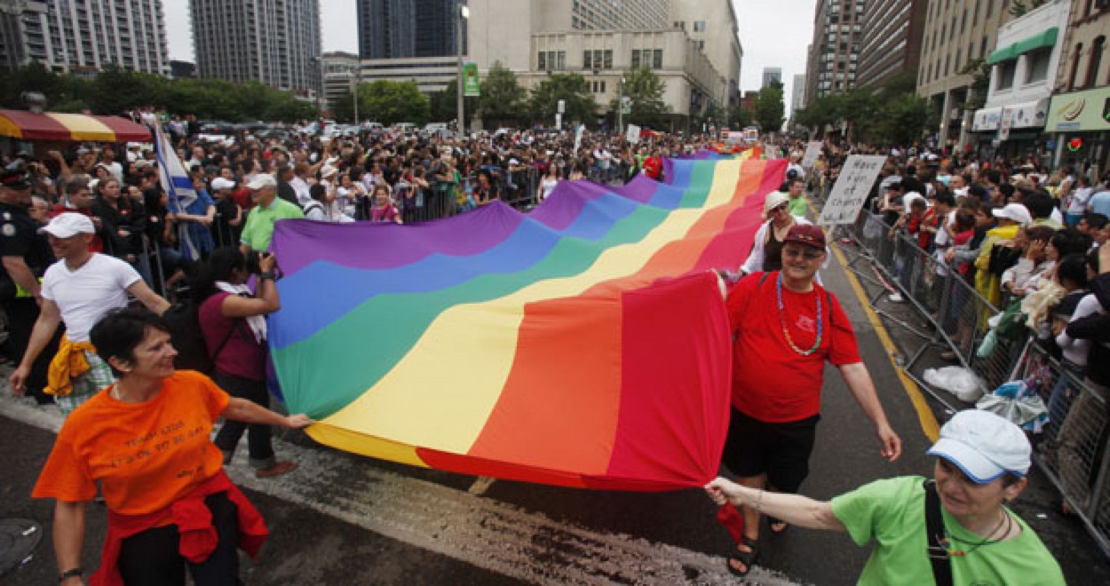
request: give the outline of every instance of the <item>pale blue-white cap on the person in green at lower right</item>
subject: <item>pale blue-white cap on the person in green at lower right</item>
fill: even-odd
[[[1032,448],[1025,432],[987,411],[967,410],[940,428],[928,454],[951,462],[972,481],[987,484],[1003,474],[1025,476]]]

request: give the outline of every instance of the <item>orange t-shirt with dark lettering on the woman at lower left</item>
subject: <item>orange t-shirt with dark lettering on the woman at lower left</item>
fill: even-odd
[[[209,438],[230,397],[211,378],[178,371],[144,403],[104,388],[65,420],[31,496],[91,501],[99,481],[122,515],[163,509],[223,466]]]

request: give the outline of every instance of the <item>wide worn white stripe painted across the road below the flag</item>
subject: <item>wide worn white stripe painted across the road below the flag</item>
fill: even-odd
[[[13,398],[4,386],[0,386],[0,413],[54,433],[62,423],[56,408]],[[241,446],[228,467],[235,483],[521,582],[583,586],[737,582],[720,556],[553,521],[490,497],[377,468],[360,456],[280,440],[275,444],[282,457],[301,464],[295,472],[258,479]],[[797,584],[758,566],[747,580]]]

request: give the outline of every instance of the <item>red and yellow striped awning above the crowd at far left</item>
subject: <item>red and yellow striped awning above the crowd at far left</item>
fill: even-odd
[[[150,131],[142,124],[120,117],[0,110],[0,137],[23,140],[149,142]]]

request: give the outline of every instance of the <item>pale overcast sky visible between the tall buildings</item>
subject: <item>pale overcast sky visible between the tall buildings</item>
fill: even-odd
[[[526,1],[526,0],[523,0]],[[189,0],[163,0],[170,59],[194,61]],[[816,0],[733,0],[744,47],[740,89],[758,90],[765,67],[783,68],[786,107],[795,73],[806,72],[806,46],[814,34]],[[359,52],[354,0],[320,0],[324,51]]]

